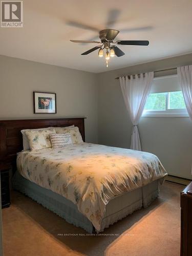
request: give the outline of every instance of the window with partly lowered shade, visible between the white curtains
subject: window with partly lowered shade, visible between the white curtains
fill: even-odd
[[[142,116],[188,116],[177,76],[154,79]]]

